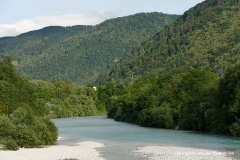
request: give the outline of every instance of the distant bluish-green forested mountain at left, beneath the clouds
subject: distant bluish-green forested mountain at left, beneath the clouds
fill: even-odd
[[[17,69],[34,79],[92,83],[100,72],[178,17],[140,13],[96,26],[46,27],[0,38],[0,55],[11,56]]]

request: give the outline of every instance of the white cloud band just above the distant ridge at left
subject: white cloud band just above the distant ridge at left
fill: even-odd
[[[0,37],[16,36],[46,26],[96,25],[106,19],[115,18],[118,15],[119,11],[107,11],[104,13],[68,13],[65,15],[34,17],[32,19],[21,20],[14,24],[0,24]]]

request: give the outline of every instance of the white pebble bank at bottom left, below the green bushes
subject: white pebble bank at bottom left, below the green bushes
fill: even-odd
[[[74,146],[56,145],[46,148],[21,148],[18,151],[0,151],[0,160],[104,160],[96,150],[104,144],[92,141]]]

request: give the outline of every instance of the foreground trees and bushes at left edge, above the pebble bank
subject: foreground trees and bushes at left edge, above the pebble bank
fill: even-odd
[[[9,57],[0,59],[0,71],[0,144],[12,150],[54,144],[57,129],[36,109],[32,84],[16,73]]]

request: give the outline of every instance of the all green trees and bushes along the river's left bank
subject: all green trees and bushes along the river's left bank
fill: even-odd
[[[54,144],[58,132],[50,119],[102,113],[92,87],[29,79],[17,74],[11,58],[0,59],[0,149]]]

